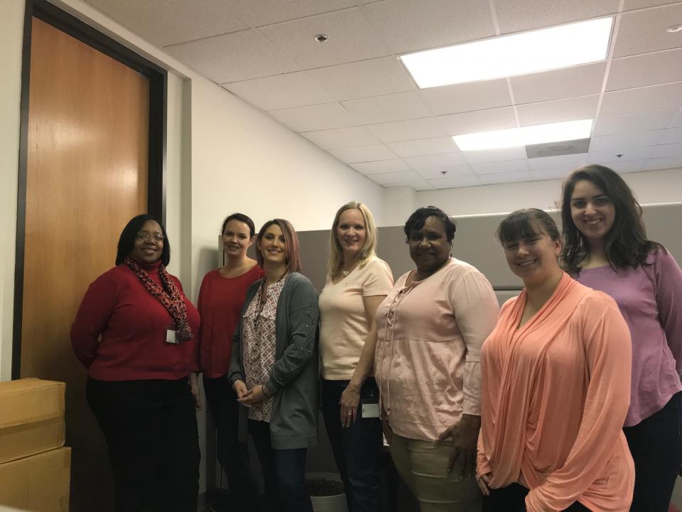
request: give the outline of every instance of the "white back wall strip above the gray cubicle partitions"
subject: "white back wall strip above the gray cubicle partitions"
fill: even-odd
[[[622,174],[641,204],[682,202],[682,169]],[[404,188],[404,187],[401,187]],[[390,190],[390,189],[387,189]],[[442,191],[415,192],[412,203],[401,198],[389,208],[386,196],[385,225],[402,225],[413,207],[438,206],[450,215],[507,213],[519,208],[556,208],[561,197],[561,180],[529,183],[500,183]]]

